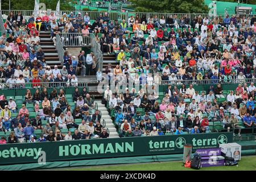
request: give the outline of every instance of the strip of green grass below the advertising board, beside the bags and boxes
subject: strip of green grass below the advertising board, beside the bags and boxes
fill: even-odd
[[[139,164],[118,164],[97,167],[69,168],[73,171],[192,171],[184,168],[182,161],[152,162]],[[205,167],[200,171],[256,171],[256,156],[242,156],[238,166]]]

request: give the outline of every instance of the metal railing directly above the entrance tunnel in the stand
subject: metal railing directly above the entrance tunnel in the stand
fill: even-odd
[[[85,36],[82,33],[61,33],[61,43],[64,47],[90,46],[90,35]]]

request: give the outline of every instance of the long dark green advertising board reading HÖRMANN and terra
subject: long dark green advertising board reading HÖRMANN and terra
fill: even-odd
[[[232,133],[185,134],[159,137],[72,140],[60,142],[16,143],[0,145],[0,165],[114,158],[124,156],[181,154],[185,143],[193,150],[216,148],[233,142]]]

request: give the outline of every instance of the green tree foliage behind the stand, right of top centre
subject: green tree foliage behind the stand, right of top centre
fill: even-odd
[[[130,0],[135,11],[157,13],[208,13],[204,0]]]

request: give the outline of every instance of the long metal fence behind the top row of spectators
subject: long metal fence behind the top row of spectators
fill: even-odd
[[[20,13],[23,15],[24,19],[29,19],[30,16],[32,14],[34,14],[34,10],[11,10],[13,11],[13,13],[16,15],[18,14],[18,12],[20,11]],[[45,12],[47,12],[48,14],[51,13],[51,11],[46,11],[46,10],[39,10],[39,14],[43,15]],[[60,14],[63,15],[64,13],[69,15],[71,12],[73,12],[75,15],[77,15],[79,12],[81,13],[81,16],[84,17],[85,13],[88,13],[90,16],[91,20],[95,20],[98,18],[98,16],[100,14],[104,15],[106,11],[60,11]],[[2,10],[2,15],[3,15],[3,19],[6,19],[7,16],[9,15],[10,10]],[[59,14],[59,12],[53,11],[53,13],[55,13],[55,15]],[[189,13],[143,13],[143,12],[126,12],[126,13],[121,13],[121,12],[108,12],[109,14],[109,18],[110,20],[119,20],[121,21],[122,19],[125,19],[126,21],[128,20],[128,18],[130,17],[130,15],[135,15],[138,14],[139,18],[142,18],[142,15],[145,15],[146,18],[150,18],[153,17],[155,15],[158,16],[158,18],[160,18],[161,16],[164,16],[164,18],[167,18],[168,16],[172,15],[176,15],[177,19],[180,19],[181,16],[185,16],[188,15],[188,18],[190,18],[191,20],[193,18],[195,18],[196,16],[201,16],[202,18],[205,18],[205,16],[207,16],[209,19],[213,18],[213,15],[211,14],[203,14],[203,13],[193,13],[193,14],[189,14]],[[231,15],[231,14],[230,14]],[[221,18],[225,18],[226,14],[217,14],[218,17]],[[252,17],[252,14],[247,14],[247,15],[240,15],[240,17],[242,18],[243,16],[247,17]],[[60,18],[60,17],[57,17]]]

